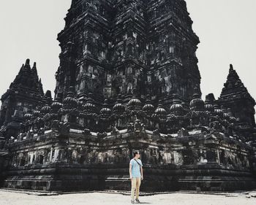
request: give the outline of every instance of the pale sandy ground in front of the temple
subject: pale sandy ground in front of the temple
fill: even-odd
[[[256,204],[256,191],[247,193],[199,194],[166,193],[154,196],[140,196],[141,204],[161,205],[250,205]],[[20,193],[0,190],[0,205],[124,205],[131,204],[128,195],[118,193],[72,193],[39,196],[34,193]]]

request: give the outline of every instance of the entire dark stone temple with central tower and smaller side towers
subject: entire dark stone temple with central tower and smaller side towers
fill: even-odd
[[[256,187],[255,100],[230,65],[201,98],[199,38],[184,0],[73,0],[56,89],[29,60],[1,97],[2,187],[142,191]]]

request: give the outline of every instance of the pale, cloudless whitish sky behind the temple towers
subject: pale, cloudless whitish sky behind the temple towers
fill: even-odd
[[[0,0],[0,95],[18,74],[26,58],[37,61],[44,90],[55,87],[59,66],[57,34],[71,0]],[[256,98],[256,1],[187,0],[193,28],[200,37],[197,50],[203,98],[216,97],[229,64]]]

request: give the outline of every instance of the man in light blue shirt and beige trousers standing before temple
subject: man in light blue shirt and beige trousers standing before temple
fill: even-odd
[[[132,190],[131,190],[131,203],[135,204],[140,203],[139,201],[139,193],[140,193],[140,182],[143,180],[143,169],[142,169],[142,162],[139,159],[140,152],[135,151],[133,152],[133,158],[129,161],[129,179],[132,182]],[[135,194],[136,190],[136,194]],[[135,198],[136,195],[136,198]]]

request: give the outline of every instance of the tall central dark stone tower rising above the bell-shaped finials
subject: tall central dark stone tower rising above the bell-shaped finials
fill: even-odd
[[[95,100],[192,99],[200,89],[199,39],[185,1],[72,1],[58,36],[61,54],[55,93],[93,93]]]

